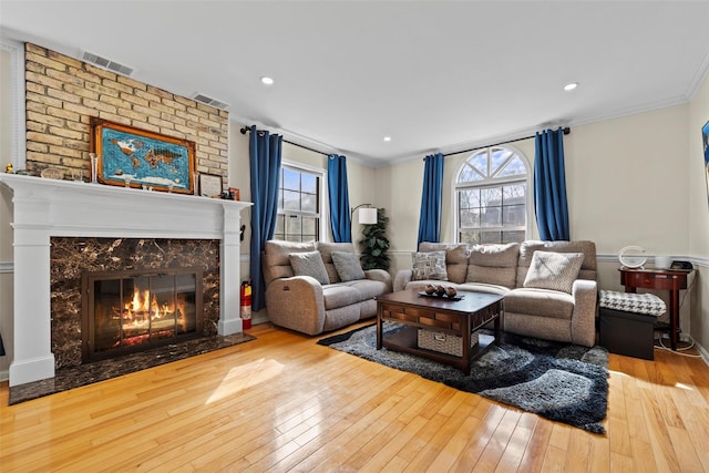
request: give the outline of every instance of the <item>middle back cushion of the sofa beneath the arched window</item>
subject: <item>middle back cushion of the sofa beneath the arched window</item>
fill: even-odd
[[[465,282],[485,282],[510,289],[516,285],[520,244],[474,245],[470,253]]]

